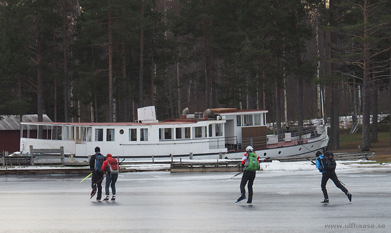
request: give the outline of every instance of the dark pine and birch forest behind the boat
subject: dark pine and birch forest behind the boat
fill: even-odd
[[[267,109],[277,128],[325,115],[331,148],[339,116],[361,115],[367,151],[390,61],[390,0],[0,0],[0,115]]]

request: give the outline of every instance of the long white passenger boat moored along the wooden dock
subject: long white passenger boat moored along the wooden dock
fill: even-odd
[[[268,134],[267,110],[214,108],[157,121],[154,106],[138,109],[132,123],[22,122],[20,150],[64,147],[65,154],[86,158],[100,147],[126,160],[174,158],[239,159],[252,146],[263,157],[313,155],[328,144],[326,126]],[[43,138],[37,128],[43,128]]]

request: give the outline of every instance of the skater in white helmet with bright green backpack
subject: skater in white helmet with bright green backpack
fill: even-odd
[[[247,189],[248,189],[248,199],[247,204],[251,204],[253,201],[253,183],[255,179],[255,172],[256,170],[260,169],[260,161],[259,158],[257,158],[257,154],[254,152],[254,148],[251,146],[248,146],[246,148],[246,153],[244,154],[243,158],[241,159],[241,170],[243,172],[243,176],[241,177],[240,181],[240,197],[238,198],[238,201],[246,199],[246,191],[244,187],[246,186],[246,183],[248,181]]]

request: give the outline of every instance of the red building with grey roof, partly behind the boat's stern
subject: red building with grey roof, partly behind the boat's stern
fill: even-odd
[[[19,115],[2,115],[0,120],[0,153],[8,151],[13,153],[20,150],[21,139],[21,124]],[[23,122],[38,122],[37,114],[23,115]],[[43,122],[52,122],[50,118],[44,114]],[[23,135],[27,130],[23,130]],[[37,135],[37,129],[30,129],[30,136]]]

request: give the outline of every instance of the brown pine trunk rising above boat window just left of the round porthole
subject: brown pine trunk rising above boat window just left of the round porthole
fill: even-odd
[[[109,122],[113,122],[113,53],[112,53],[112,18],[109,11]]]

